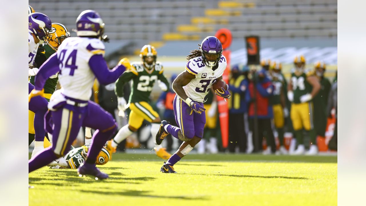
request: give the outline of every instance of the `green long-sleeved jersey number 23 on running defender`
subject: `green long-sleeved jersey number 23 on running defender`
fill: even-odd
[[[160,62],[156,62],[151,70],[147,70],[142,62],[132,62],[131,68],[125,71],[116,81],[115,93],[118,97],[123,97],[123,85],[132,80],[128,103],[150,102],[150,93],[157,80],[164,82],[169,89],[169,82],[163,71]]]

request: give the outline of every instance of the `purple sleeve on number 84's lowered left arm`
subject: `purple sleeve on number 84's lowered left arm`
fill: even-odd
[[[36,90],[42,90],[46,83],[46,80],[59,71],[59,60],[57,59],[57,53],[55,53],[51,55],[40,67],[40,70],[34,78],[34,87],[36,88]]]

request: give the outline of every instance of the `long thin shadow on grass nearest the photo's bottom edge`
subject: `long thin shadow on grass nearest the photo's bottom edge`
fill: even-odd
[[[167,199],[183,199],[183,200],[207,200],[204,196],[161,196],[161,195],[150,195],[150,191],[137,191],[137,190],[125,190],[125,191],[94,191],[94,190],[80,190],[86,193],[95,193],[101,195],[122,195],[132,197],[147,197],[147,198],[167,198]]]

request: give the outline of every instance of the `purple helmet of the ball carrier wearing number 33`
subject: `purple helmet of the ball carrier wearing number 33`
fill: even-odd
[[[218,38],[208,36],[201,44],[202,60],[205,65],[214,67],[217,65],[223,53],[223,45]]]

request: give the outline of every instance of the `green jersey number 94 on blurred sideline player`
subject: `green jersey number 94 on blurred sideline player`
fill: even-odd
[[[300,96],[310,93],[312,88],[309,82],[306,81],[307,75],[302,73],[300,76],[296,76],[295,73],[291,74],[292,91],[294,92],[294,103],[299,104]]]

